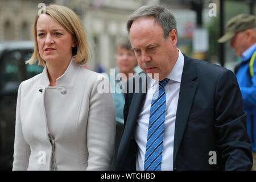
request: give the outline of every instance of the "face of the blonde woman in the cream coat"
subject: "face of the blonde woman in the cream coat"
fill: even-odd
[[[36,24],[39,54],[47,63],[69,63],[72,47],[76,47],[72,35],[50,15],[41,15]]]

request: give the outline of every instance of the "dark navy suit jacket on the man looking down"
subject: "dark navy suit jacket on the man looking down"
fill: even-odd
[[[134,83],[134,79],[128,82]],[[147,86],[142,79],[139,85]],[[125,129],[117,170],[136,169],[134,129],[146,96],[141,93],[142,88],[140,93],[125,94]],[[209,164],[213,156],[210,151],[216,152],[217,164]],[[236,76],[228,69],[184,55],[175,121],[174,170],[250,170],[252,163],[246,113]]]

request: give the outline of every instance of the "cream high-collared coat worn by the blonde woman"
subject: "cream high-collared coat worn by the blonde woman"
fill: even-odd
[[[109,169],[115,109],[112,94],[97,91],[102,78],[71,61],[57,86],[49,86],[46,67],[20,84],[13,170],[51,170],[52,152],[56,170]]]

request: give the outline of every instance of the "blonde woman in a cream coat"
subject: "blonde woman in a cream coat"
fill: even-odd
[[[102,75],[82,68],[89,46],[81,20],[64,6],[36,15],[35,52],[45,65],[19,86],[13,170],[108,170],[114,152],[115,109],[100,94]]]

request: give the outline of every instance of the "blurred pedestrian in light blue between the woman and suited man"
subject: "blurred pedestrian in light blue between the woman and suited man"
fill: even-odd
[[[116,121],[116,133],[115,133],[115,154],[117,154],[118,146],[122,137],[123,131],[123,106],[125,105],[125,97],[122,91],[122,83],[125,83],[127,79],[133,77],[134,68],[138,64],[134,51],[131,50],[131,43],[129,39],[121,40],[116,47],[116,63],[117,67],[115,68],[115,77],[118,75],[120,80],[110,80],[112,79],[109,76],[110,82],[114,82],[112,85],[114,101],[115,101],[115,121]],[[112,169],[115,169],[116,155],[113,160]]]

